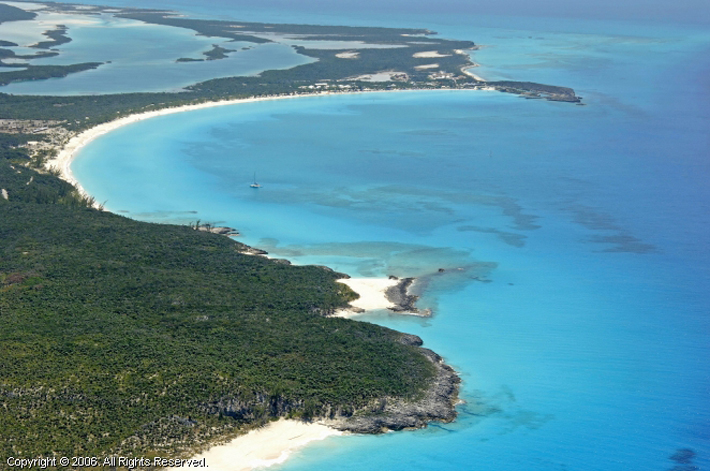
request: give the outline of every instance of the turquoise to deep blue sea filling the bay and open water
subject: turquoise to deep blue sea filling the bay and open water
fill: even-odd
[[[367,22],[345,5],[342,23]],[[279,470],[709,469],[710,31],[417,7],[370,23],[474,40],[479,75],[572,86],[587,106],[470,91],[243,104],[121,128],[74,171],[112,211],[427,281],[432,318],[362,319],[420,335],[460,372],[459,419],[329,439]],[[679,449],[695,457],[670,459]]]

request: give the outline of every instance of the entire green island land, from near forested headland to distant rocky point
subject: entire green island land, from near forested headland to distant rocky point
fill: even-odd
[[[138,9],[114,14],[255,44],[269,41],[268,31],[400,47],[298,46],[317,60],[181,92],[0,94],[0,455],[187,456],[279,417],[366,433],[453,420],[459,379],[419,338],[329,317],[357,297],[336,282],[346,275],[253,256],[243,244],[195,227],[102,211],[45,163],[78,131],[180,105],[482,87],[578,102],[574,91],[483,82],[466,73],[475,65],[465,52],[474,43],[428,30],[193,20]],[[0,4],[0,22],[28,15]],[[45,36],[37,48],[46,54],[70,38],[66,28]],[[232,52],[214,45],[203,54],[220,60]],[[100,66],[27,65],[0,74],[0,84]],[[389,80],[368,79],[383,72]]]

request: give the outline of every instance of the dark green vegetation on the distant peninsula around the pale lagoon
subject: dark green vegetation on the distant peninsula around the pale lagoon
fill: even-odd
[[[55,5],[61,8],[61,4]],[[67,7],[68,8],[68,7]],[[431,88],[472,88],[478,82],[462,73],[462,69],[472,66],[465,50],[472,49],[471,41],[452,41],[433,37],[435,34],[425,29],[404,28],[372,28],[347,26],[318,25],[280,25],[267,23],[247,23],[220,20],[195,20],[176,17],[169,12],[124,9],[116,16],[147,23],[172,27],[187,28],[205,36],[228,38],[233,41],[252,43],[270,42],[273,35],[307,35],[311,40],[328,41],[358,41],[367,44],[387,44],[393,47],[382,49],[355,49],[356,59],[337,57],[338,50],[309,49],[296,47],[296,50],[316,61],[287,70],[269,70],[257,77],[229,77],[198,83],[187,87],[186,92],[179,93],[132,93],[108,95],[101,97],[73,97],[71,101],[62,103],[56,97],[7,97],[0,94],[0,116],[19,118],[28,116],[25,105],[32,103],[36,113],[47,119],[64,119],[72,128],[85,127],[99,122],[100,119],[113,119],[124,113],[132,113],[156,109],[160,107],[178,106],[186,103],[214,101],[223,99],[264,96],[275,94],[304,93],[317,83],[328,83],[330,90],[340,90],[340,85],[349,90],[362,89],[431,89]],[[56,30],[59,31],[59,30]],[[56,32],[55,31],[55,32]],[[46,33],[47,34],[47,33]],[[416,53],[437,51],[441,57],[414,57]],[[207,60],[220,59],[226,56],[228,49],[214,45],[213,49],[204,53]],[[1,59],[1,57],[0,57]],[[198,61],[201,59],[181,58],[180,62]],[[436,63],[436,69],[420,69],[421,65]],[[63,69],[28,68],[0,74],[2,79],[36,80],[48,76],[62,76],[74,71],[97,67],[99,64],[74,64]],[[72,69],[74,68],[74,69]],[[358,82],[357,77],[375,74],[382,71],[401,72],[403,79],[397,82]],[[432,77],[435,72],[436,76]],[[52,75],[56,74],[56,75]],[[8,82],[4,82],[8,83]],[[487,82],[500,90],[519,93],[530,97],[544,97],[551,100],[579,101],[574,91],[563,87],[541,86],[532,83]],[[322,88],[321,88],[322,90]],[[75,98],[75,99],[74,99]],[[19,106],[18,106],[19,105]],[[57,108],[59,106],[59,108]],[[89,117],[87,120],[86,117]]]

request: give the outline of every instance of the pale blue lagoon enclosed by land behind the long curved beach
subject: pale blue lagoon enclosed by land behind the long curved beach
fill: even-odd
[[[83,17],[75,15],[72,18]],[[95,70],[57,79],[11,83],[0,87],[0,92],[22,95],[77,95],[180,90],[213,78],[257,75],[265,70],[288,69],[314,60],[298,54],[288,44],[230,42],[224,38],[198,36],[187,29],[150,25],[115,18],[109,14],[88,18],[90,20],[85,23],[76,21],[75,24],[68,24],[67,34],[72,41],[55,48],[60,55],[32,60],[31,64],[103,62],[103,65]],[[66,22],[66,18],[56,21],[61,22],[60,20]],[[0,28],[6,25],[9,25],[7,28],[14,29],[21,29],[22,26],[7,23],[0,25]],[[15,42],[18,39],[9,32],[3,35],[0,29],[0,39],[6,37]],[[34,41],[36,40],[29,41],[28,44]],[[22,45],[24,42],[18,44]],[[235,52],[228,53],[227,58],[220,60],[176,62],[184,57],[204,58],[202,53],[212,49],[213,44]],[[30,49],[30,52],[25,51],[27,48],[12,49],[18,54],[37,52],[36,49]]]

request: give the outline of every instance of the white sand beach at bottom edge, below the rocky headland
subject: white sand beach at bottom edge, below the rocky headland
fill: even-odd
[[[204,458],[212,471],[250,471],[283,463],[291,453],[310,442],[342,434],[325,425],[282,419],[192,458]]]

